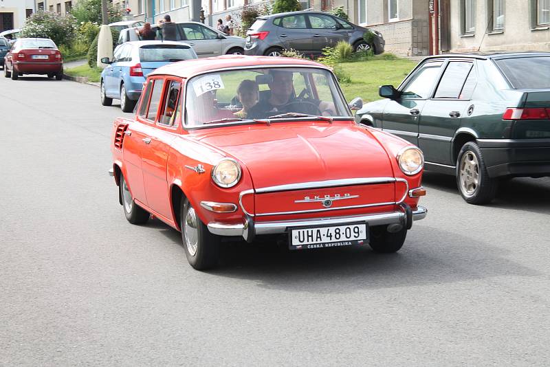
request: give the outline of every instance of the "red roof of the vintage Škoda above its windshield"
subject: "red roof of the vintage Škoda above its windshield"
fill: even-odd
[[[272,56],[245,56],[223,55],[209,58],[185,60],[179,63],[159,67],[149,75],[172,75],[180,78],[191,78],[208,71],[239,68],[239,67],[277,67],[277,66],[309,66],[329,69],[315,61],[301,58],[272,57]]]

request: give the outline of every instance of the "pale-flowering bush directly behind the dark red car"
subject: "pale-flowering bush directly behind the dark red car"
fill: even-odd
[[[76,19],[70,14],[39,11],[28,17],[21,36],[52,38],[58,46],[70,45],[76,36]]]

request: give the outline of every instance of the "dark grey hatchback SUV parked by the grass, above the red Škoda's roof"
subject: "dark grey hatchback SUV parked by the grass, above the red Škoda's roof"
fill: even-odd
[[[304,55],[320,55],[322,49],[339,41],[353,45],[355,51],[373,49],[384,52],[384,38],[373,32],[371,43],[363,39],[369,31],[338,16],[322,12],[287,12],[260,16],[246,33],[245,55],[280,56],[283,49]]]

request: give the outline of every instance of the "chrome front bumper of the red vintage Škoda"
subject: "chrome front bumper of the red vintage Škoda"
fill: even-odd
[[[419,221],[426,217],[428,210],[418,206],[412,210],[412,221]],[[401,224],[407,226],[407,214],[405,211],[384,212],[366,214],[360,216],[337,216],[332,218],[300,219],[295,221],[276,221],[254,223],[251,218],[243,224],[223,224],[217,222],[208,223],[208,230],[219,236],[243,236],[245,240],[252,240],[254,236],[261,234],[285,233],[289,227],[314,227],[316,225],[339,225],[352,222],[366,222],[369,226]],[[409,223],[410,226],[411,223]]]

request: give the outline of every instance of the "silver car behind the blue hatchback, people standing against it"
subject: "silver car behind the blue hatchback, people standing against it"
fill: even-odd
[[[176,24],[176,41],[190,45],[199,58],[225,54],[244,54],[245,38],[228,36],[202,23],[184,22]],[[120,31],[117,45],[122,45],[122,43],[129,41],[141,41],[140,36],[136,32],[139,29],[139,27],[133,27]],[[151,29],[156,32],[157,41],[162,41],[162,30],[157,25],[151,25]]]

